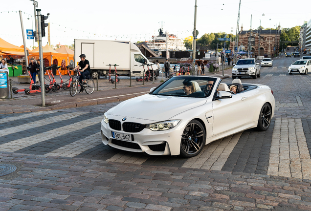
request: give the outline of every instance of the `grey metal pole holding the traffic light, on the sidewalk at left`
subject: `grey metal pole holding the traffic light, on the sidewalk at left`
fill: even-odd
[[[38,14],[38,22],[41,23],[41,9],[36,9]],[[39,40],[39,58],[40,58],[40,84],[41,84],[41,102],[42,106],[45,106],[45,84],[44,84],[44,71],[43,71],[43,50],[42,50],[42,36],[41,36],[41,24],[38,24],[38,40]]]

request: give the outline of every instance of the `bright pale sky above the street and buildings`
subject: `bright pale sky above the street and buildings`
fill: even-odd
[[[50,44],[74,43],[74,39],[150,41],[163,24],[163,30],[178,38],[192,35],[195,0],[37,0],[41,13],[50,13]],[[236,34],[240,0],[197,0],[198,38],[205,33]],[[11,0],[1,4],[0,38],[21,46],[22,29],[19,10],[22,11],[24,33],[35,29],[34,8],[31,0]],[[302,6],[303,5],[303,6]],[[295,9],[291,9],[295,8]],[[240,27],[256,29],[303,25],[311,19],[311,0],[241,0]],[[265,14],[265,16],[263,16]],[[252,15],[252,21],[251,21]],[[28,20],[29,18],[29,20]],[[271,21],[270,21],[271,19]],[[43,46],[47,43],[43,38]],[[26,37],[25,37],[26,39]],[[26,39],[26,46],[38,46]]]

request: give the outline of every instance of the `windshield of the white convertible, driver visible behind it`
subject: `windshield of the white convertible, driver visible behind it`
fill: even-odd
[[[150,94],[178,97],[208,97],[216,78],[198,76],[175,76],[161,84]]]

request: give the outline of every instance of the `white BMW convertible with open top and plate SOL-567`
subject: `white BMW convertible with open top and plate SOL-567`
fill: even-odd
[[[274,115],[272,90],[240,79],[221,81],[175,76],[149,94],[120,103],[104,114],[102,142],[149,155],[193,157],[225,136],[253,127],[267,130]]]

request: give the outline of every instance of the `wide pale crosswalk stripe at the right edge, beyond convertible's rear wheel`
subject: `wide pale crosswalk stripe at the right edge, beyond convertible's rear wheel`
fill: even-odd
[[[301,120],[275,118],[267,174],[311,179],[310,166]]]

